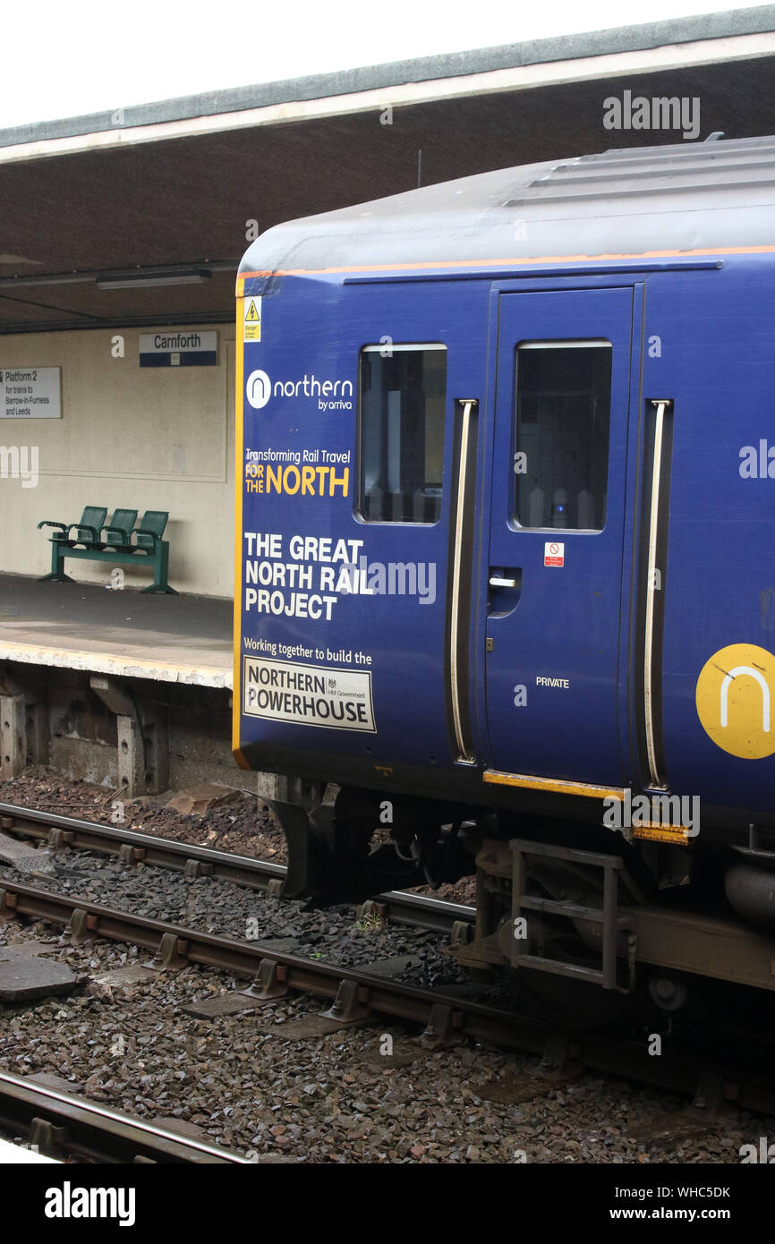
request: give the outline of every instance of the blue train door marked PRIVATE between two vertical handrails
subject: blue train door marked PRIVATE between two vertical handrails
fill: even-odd
[[[486,622],[490,764],[621,785],[633,289],[501,294]]]

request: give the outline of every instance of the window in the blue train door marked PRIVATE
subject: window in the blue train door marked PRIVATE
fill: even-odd
[[[516,347],[516,525],[602,531],[610,423],[610,341]]]

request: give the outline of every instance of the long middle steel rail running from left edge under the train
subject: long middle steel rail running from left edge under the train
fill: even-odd
[[[197,963],[238,977],[255,977],[256,1005],[262,1000],[260,990],[266,983],[260,979],[258,969],[269,963],[274,965],[279,985],[336,999],[333,1011],[340,1008],[342,1018],[346,1018],[343,986],[350,986],[350,1001],[361,1009],[361,1019],[369,1013],[379,1013],[424,1024],[427,1034],[439,1039],[465,1036],[474,1041],[537,1054],[551,1050],[557,1040],[559,1025],[552,1026],[531,1015],[445,994],[443,989],[422,989],[362,968],[305,959],[258,942],[239,942],[152,921],[90,903],[77,896],[55,894],[7,881],[2,882],[2,887],[0,921],[29,916],[55,924],[70,924],[76,937],[93,935],[128,942],[157,952],[158,968]],[[271,1000],[270,996],[266,1000]],[[277,1036],[281,1035],[282,1025],[277,1025]],[[570,1061],[588,1071],[617,1075],[689,1096],[697,1093],[700,1080],[708,1082],[708,1077],[713,1077],[720,1095],[734,1100],[741,1108],[775,1113],[775,1081],[753,1076],[748,1071],[709,1067],[697,1057],[673,1051],[652,1057],[647,1042],[622,1040],[601,1030],[565,1030],[560,1036],[568,1050]]]

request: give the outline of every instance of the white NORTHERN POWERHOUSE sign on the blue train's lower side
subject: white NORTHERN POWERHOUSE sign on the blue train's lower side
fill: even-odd
[[[243,712],[272,722],[376,734],[372,675],[285,661],[244,658]]]

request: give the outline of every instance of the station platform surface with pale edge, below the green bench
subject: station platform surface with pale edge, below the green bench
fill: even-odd
[[[231,601],[0,575],[0,662],[231,688]]]

